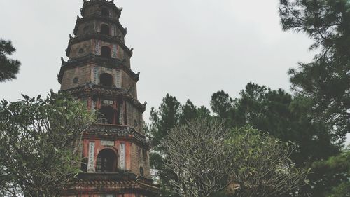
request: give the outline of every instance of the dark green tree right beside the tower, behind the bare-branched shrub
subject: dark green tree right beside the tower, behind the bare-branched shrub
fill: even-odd
[[[187,123],[197,117],[209,117],[209,109],[206,107],[196,107],[190,100],[186,104],[181,104],[176,97],[167,94],[158,110],[151,109],[151,125],[146,127],[146,134],[151,139],[153,151],[150,154],[151,167],[158,170],[158,179],[162,182],[160,196],[177,196],[169,190],[169,179],[172,173],[164,168],[163,156],[164,147],[160,141],[167,137],[169,130],[175,125]]]

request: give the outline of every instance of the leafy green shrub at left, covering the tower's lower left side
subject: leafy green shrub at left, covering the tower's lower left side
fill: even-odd
[[[67,95],[23,97],[0,103],[0,193],[59,196],[80,172],[80,136],[94,116]]]

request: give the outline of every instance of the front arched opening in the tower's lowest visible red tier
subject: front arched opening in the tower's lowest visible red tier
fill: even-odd
[[[116,172],[117,157],[111,149],[104,149],[97,156],[96,172]]]

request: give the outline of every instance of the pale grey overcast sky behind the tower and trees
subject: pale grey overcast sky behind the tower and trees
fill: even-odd
[[[288,69],[311,60],[311,41],[282,32],[278,0],[116,0],[125,43],[141,72],[139,100],[158,107],[167,93],[209,106],[225,90],[237,97],[252,81],[290,89]],[[17,48],[18,79],[0,83],[0,99],[59,90],[57,73],[83,0],[0,0],[0,37]]]

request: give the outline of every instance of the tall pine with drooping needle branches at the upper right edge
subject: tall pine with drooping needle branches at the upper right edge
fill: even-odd
[[[335,127],[339,139],[350,131],[350,3],[347,0],[280,0],[283,30],[304,32],[319,52],[290,69],[297,94],[313,101],[314,118]]]

